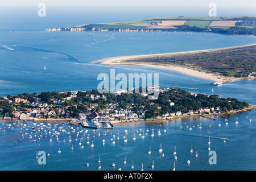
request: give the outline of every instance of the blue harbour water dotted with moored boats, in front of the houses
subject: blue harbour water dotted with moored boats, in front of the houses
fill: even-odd
[[[239,121],[237,125],[235,124],[236,116]],[[9,129],[5,128],[9,123],[3,122],[0,124],[2,128],[0,168],[1,170],[86,171],[98,170],[98,167],[101,166],[101,170],[108,171],[119,168],[137,171],[141,170],[142,163],[144,170],[152,170],[151,166],[154,160],[154,170],[157,171],[172,170],[174,162],[176,170],[255,170],[255,110],[228,117],[228,122],[229,125],[225,125],[225,118],[222,117],[216,117],[216,121],[207,118],[188,118],[151,123],[121,123],[115,125],[112,130],[101,127],[98,130],[88,129],[87,132],[81,126],[62,123],[51,124],[51,127],[47,123],[44,123],[45,127],[37,123],[34,126],[35,132],[32,132],[32,122],[28,122],[26,127],[22,127],[20,123],[10,122]],[[219,123],[221,126],[218,126]],[[202,129],[197,127],[200,124]],[[182,129],[180,126],[183,126]],[[189,128],[192,126],[192,130],[186,126]],[[13,129],[11,129],[12,127]],[[62,129],[58,129],[59,127]],[[71,127],[75,129],[74,133],[72,133]],[[57,143],[56,134],[52,129],[60,133],[58,135],[59,143]],[[152,129],[154,129],[154,137],[151,136]],[[48,134],[48,130],[52,133]],[[160,135],[158,134],[159,130]],[[26,133],[28,134],[26,135]],[[78,137],[77,133],[79,133]],[[249,133],[251,134],[249,135]],[[31,139],[29,138],[30,134],[32,135]],[[134,135],[135,140],[133,140]],[[52,141],[49,141],[50,136],[52,136]],[[69,142],[69,136],[71,136],[71,142]],[[125,136],[127,136],[127,142],[124,142],[123,137]],[[217,156],[217,164],[212,165],[208,161],[210,158],[209,136],[210,150],[215,151]],[[38,137],[40,137],[40,142],[36,142],[39,140]],[[76,138],[77,140],[75,140]],[[104,145],[102,144],[103,139],[105,140]],[[114,144],[113,141],[115,141]],[[93,147],[90,146],[92,142]],[[159,152],[160,144],[162,144],[162,153]],[[72,146],[73,150],[71,150]],[[81,146],[84,147],[81,148]],[[176,155],[173,154],[175,146]],[[193,146],[193,153],[190,152],[191,146]],[[148,154],[150,147],[151,154]],[[59,150],[60,154],[57,152]],[[38,160],[35,159],[36,152],[39,151],[50,154],[46,158],[46,165],[39,165]],[[198,158],[195,158],[196,151],[199,155]],[[99,156],[100,164],[97,163]],[[177,156],[177,160],[174,159],[174,156]],[[125,158],[126,164],[123,163]],[[187,160],[191,161],[189,165]],[[133,161],[134,169],[131,168]],[[86,166],[87,163],[89,163],[89,167]],[[115,163],[115,167],[112,167],[113,163]]]

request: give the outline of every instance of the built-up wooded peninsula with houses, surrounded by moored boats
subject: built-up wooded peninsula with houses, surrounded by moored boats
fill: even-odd
[[[88,126],[101,123],[152,121],[180,117],[232,114],[251,110],[254,106],[235,98],[186,92],[181,89],[154,87],[158,98],[148,100],[147,93],[116,90],[100,94],[97,90],[42,92],[0,97],[2,119],[34,121],[71,121]],[[79,122],[77,122],[79,121]]]

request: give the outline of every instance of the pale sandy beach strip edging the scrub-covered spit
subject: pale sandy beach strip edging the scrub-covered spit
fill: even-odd
[[[156,65],[156,64],[146,64],[146,63],[123,63],[127,59],[137,59],[137,58],[146,58],[146,57],[155,57],[155,56],[168,56],[168,55],[177,55],[177,54],[187,54],[187,53],[200,53],[200,52],[212,52],[212,51],[220,51],[224,49],[230,48],[239,48],[239,47],[248,47],[255,46],[256,44],[249,44],[245,46],[237,46],[237,47],[226,47],[226,48],[216,48],[216,49],[204,49],[197,51],[185,51],[185,52],[172,52],[172,53],[158,53],[152,55],[133,55],[133,56],[118,56],[118,57],[108,57],[105,59],[94,61],[93,64],[106,64],[106,65],[137,65],[142,67],[150,67],[150,68],[159,68],[159,69],[167,69],[170,71],[176,71],[180,73],[184,73],[185,75],[195,76],[204,78],[212,81],[222,81],[224,83],[236,80],[247,80],[247,79],[255,79],[255,78],[236,78],[236,77],[224,77],[214,75],[213,73],[200,72],[195,69],[186,68],[186,67],[178,67],[174,65]]]

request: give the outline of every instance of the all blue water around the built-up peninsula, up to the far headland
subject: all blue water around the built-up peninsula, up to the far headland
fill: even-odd
[[[209,32],[1,30],[0,96],[97,89],[101,82],[97,76],[100,73],[110,75],[110,69],[115,69],[115,74],[124,73],[127,76],[129,73],[158,73],[161,88],[180,88],[205,94],[213,94],[213,89],[214,94],[220,97],[237,98],[256,105],[255,80],[213,86],[211,80],[175,71],[93,64],[94,61],[115,56],[194,51],[255,43],[255,36]],[[172,171],[174,165],[177,171],[256,170],[255,115],[254,109],[227,118],[214,117],[215,120],[191,117],[174,121],[119,123],[109,130],[104,127],[86,129],[65,122],[33,125],[33,122],[28,121],[25,126],[22,122],[0,121],[0,170],[96,171],[101,166],[101,171],[117,171],[119,168],[137,171],[143,166],[146,171]],[[235,123],[237,118],[238,124]],[[221,126],[218,126],[220,123]],[[202,128],[199,129],[198,125]],[[152,131],[154,137],[151,136]],[[127,142],[124,141],[125,136]],[[38,137],[40,142],[36,142],[39,141]],[[209,139],[210,151],[213,152],[208,150]],[[93,147],[90,146],[92,142]],[[160,145],[162,153],[159,152]],[[149,148],[151,154],[148,154]],[[173,154],[175,148],[176,160]],[[58,153],[59,150],[61,153]],[[39,159],[36,159],[39,151],[49,154],[46,164],[39,164]],[[213,157],[216,163],[210,162]],[[125,159],[126,164],[123,163]],[[153,161],[154,168],[151,167]],[[113,163],[115,167],[112,167]],[[132,165],[134,168],[131,168]]]

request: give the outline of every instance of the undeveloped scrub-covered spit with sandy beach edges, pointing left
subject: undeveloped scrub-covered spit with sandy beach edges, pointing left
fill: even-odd
[[[110,57],[96,64],[140,65],[170,69],[218,82],[255,78],[256,44],[200,51]]]

